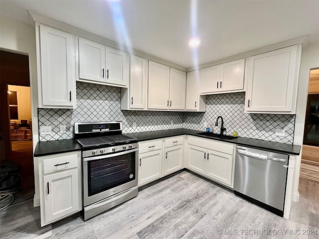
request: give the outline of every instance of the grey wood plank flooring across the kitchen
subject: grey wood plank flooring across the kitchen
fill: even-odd
[[[77,214],[40,228],[40,210],[33,208],[32,200],[9,206],[0,211],[0,237],[3,239],[318,238],[316,235],[301,236],[296,230],[301,230],[301,233],[303,230],[318,230],[319,183],[301,179],[300,201],[293,205],[291,219],[286,220],[207,180],[182,171],[157,184],[145,187],[139,192],[138,197],[86,222]],[[284,230],[291,231],[285,234]]]

